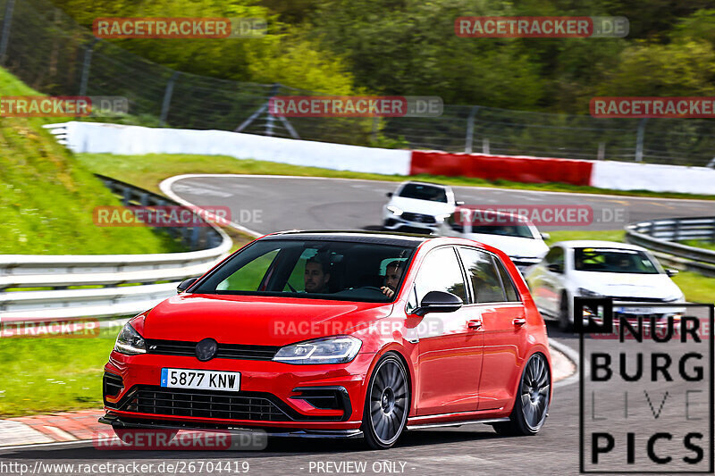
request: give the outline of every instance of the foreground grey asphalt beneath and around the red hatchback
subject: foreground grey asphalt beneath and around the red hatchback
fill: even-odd
[[[552,337],[559,336],[551,329]],[[560,335],[559,341],[576,348],[578,340]],[[182,451],[99,451],[86,443],[82,447],[37,447],[0,452],[0,462],[27,463],[32,468],[42,463],[139,464],[179,462],[239,462],[249,464],[248,474],[303,475],[317,472],[318,462],[366,462],[363,474],[373,472],[374,463],[391,463],[406,475],[490,474],[577,474],[578,472],[578,385],[554,388],[554,399],[546,424],[535,437],[500,437],[491,426],[466,425],[440,430],[413,430],[404,435],[398,447],[386,451],[366,451],[355,441],[329,439],[271,439],[261,452],[182,452]],[[314,464],[311,471],[311,462]],[[401,464],[404,463],[404,464]],[[332,467],[334,469],[334,467]],[[227,472],[189,472],[187,474],[228,474]],[[389,474],[389,472],[387,472]],[[109,472],[122,475],[126,473]],[[131,473],[135,474],[135,473]],[[140,473],[136,473],[140,474]]]

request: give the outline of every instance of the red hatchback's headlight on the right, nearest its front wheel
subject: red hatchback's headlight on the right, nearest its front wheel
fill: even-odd
[[[346,363],[357,355],[362,341],[350,336],[316,338],[281,347],[273,360],[284,363]]]

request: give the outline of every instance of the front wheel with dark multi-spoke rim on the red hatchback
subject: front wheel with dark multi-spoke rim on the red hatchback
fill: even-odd
[[[400,358],[386,354],[374,367],[367,385],[362,430],[372,449],[393,447],[408,422],[408,373]]]

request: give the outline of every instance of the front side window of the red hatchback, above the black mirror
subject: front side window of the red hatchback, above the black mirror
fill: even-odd
[[[467,302],[467,287],[451,246],[437,248],[425,257],[415,280],[417,302],[430,291],[446,291]]]

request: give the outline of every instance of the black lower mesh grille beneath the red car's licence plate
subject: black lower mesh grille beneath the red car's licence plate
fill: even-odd
[[[264,422],[294,420],[262,392],[222,392],[186,388],[137,386],[118,410],[172,416],[223,418]]]

